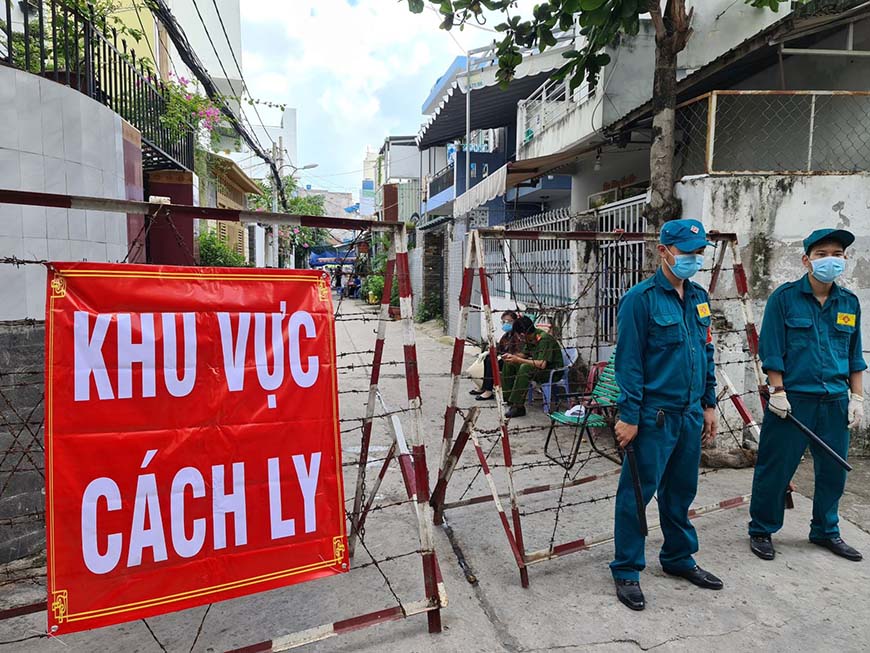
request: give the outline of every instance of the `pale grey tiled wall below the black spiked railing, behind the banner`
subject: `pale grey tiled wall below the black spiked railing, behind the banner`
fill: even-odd
[[[124,198],[121,119],[78,91],[0,67],[0,188]],[[125,214],[0,204],[0,258],[118,261]],[[0,320],[43,319],[45,269],[0,265]]]

